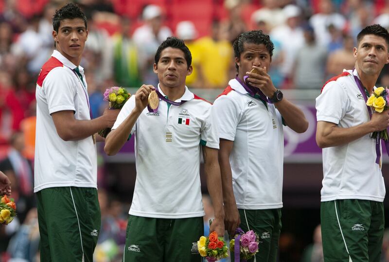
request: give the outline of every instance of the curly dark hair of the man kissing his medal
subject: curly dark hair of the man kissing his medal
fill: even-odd
[[[274,44],[270,40],[269,35],[265,35],[262,30],[252,30],[243,32],[236,38],[236,40],[233,43],[233,49],[234,49],[234,56],[240,58],[241,53],[243,50],[243,44],[249,43],[249,44],[264,44],[267,51],[270,54],[270,58],[273,56],[273,50],[274,50]],[[235,64],[236,70],[239,70],[239,66]]]

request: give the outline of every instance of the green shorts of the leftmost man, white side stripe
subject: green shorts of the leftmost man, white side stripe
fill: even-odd
[[[54,187],[36,193],[40,261],[92,262],[101,226],[95,188]]]

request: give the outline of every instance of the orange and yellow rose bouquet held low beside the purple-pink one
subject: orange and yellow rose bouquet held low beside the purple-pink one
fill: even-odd
[[[213,231],[209,237],[202,236],[197,241],[197,248],[200,256],[206,257],[208,262],[215,262],[228,257],[227,243],[222,237],[218,237],[217,233]]]

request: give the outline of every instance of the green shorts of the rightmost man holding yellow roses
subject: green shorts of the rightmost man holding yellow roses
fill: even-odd
[[[382,202],[359,199],[321,202],[320,216],[324,261],[380,261],[385,226]]]

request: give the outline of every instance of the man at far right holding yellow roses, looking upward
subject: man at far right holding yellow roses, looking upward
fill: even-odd
[[[385,185],[381,142],[389,111],[371,112],[367,98],[389,63],[389,33],[380,25],[357,35],[355,69],[330,79],[316,99],[316,141],[323,148],[321,235],[328,262],[380,261]],[[389,148],[387,148],[388,150]]]

